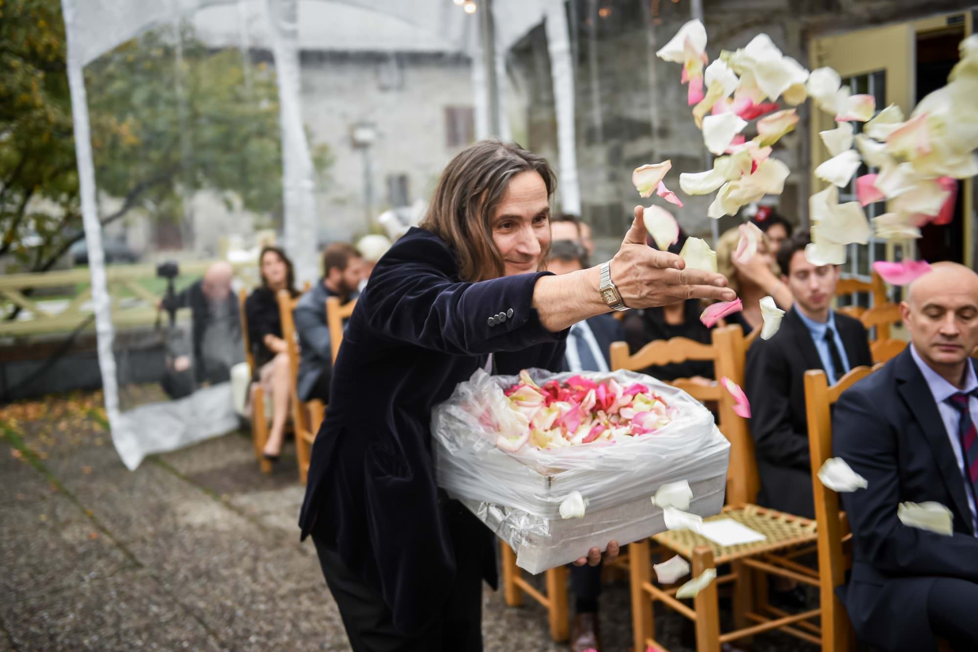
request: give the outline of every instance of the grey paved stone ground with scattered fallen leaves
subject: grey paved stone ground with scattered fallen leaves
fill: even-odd
[[[0,652],[348,649],[312,543],[298,541],[290,447],[271,476],[240,433],[129,472],[98,404],[0,408]],[[532,600],[507,607],[488,588],[483,600],[487,650],[567,649]],[[604,649],[627,649],[627,582],[601,604]],[[681,617],[656,626],[671,650],[690,649]],[[816,649],[779,634],[754,644]]]

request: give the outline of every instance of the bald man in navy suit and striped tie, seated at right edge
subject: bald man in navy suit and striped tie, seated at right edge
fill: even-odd
[[[867,479],[843,493],[853,570],[840,592],[859,637],[880,650],[978,649],[978,275],[938,263],[901,303],[911,345],[845,392],[834,454]],[[954,532],[911,528],[902,502],[933,501]]]

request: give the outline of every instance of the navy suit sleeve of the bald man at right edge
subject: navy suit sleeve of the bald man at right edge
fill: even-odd
[[[880,418],[879,400],[858,389],[844,393],[835,403],[832,433],[833,454],[868,483],[867,489],[841,494],[858,558],[882,573],[978,582],[978,538],[909,528],[897,518],[899,436]]]

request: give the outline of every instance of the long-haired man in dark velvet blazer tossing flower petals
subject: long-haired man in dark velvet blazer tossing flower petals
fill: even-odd
[[[547,162],[516,145],[469,146],[350,317],[299,526],[354,650],[482,649],[481,579],[496,580],[496,545],[436,486],[433,405],[478,368],[559,369],[567,329],[611,304],[733,299],[719,274],[645,247],[641,207],[612,260],[542,271],[554,186]],[[617,552],[610,541],[607,556]],[[581,555],[595,565],[601,551]]]

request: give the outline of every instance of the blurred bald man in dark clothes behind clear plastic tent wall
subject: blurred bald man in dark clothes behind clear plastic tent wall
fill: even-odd
[[[158,305],[164,310],[190,308],[193,360],[181,355],[174,360],[174,369],[184,371],[193,364],[199,385],[229,380],[231,367],[244,360],[238,300],[231,291],[233,279],[230,263],[215,262],[172,302],[161,300]]]

